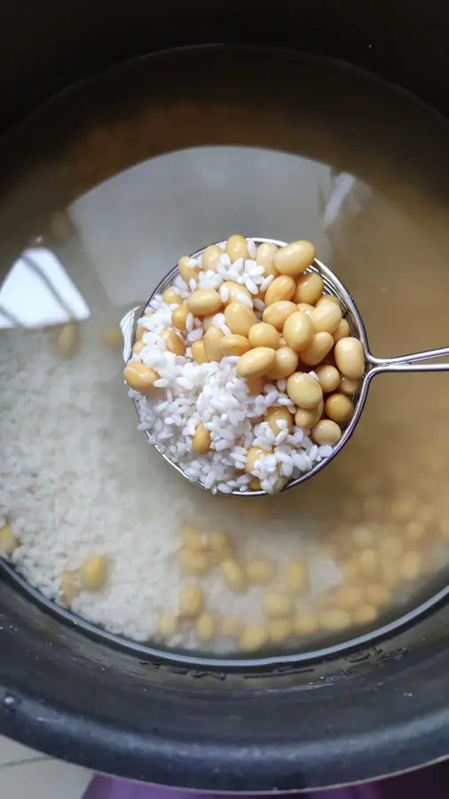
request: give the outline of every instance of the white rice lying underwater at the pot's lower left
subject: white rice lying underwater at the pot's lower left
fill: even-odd
[[[185,523],[225,530],[239,557],[275,558],[280,574],[289,559],[307,557],[311,595],[341,581],[333,562],[308,544],[317,529],[307,510],[298,521],[282,495],[210,496],[162,461],[136,430],[121,355],[101,344],[93,322],[83,326],[73,360],[60,360],[46,333],[1,336],[0,517],[20,539],[13,564],[46,597],[60,601],[61,574],[92,553],[105,555],[105,588],[83,591],[73,610],[115,634],[157,640],[161,609],[176,613],[179,590],[193,579],[177,563]],[[262,621],[265,589],[236,595],[218,570],[201,583],[210,610]],[[204,648],[187,627],[169,645]],[[217,637],[209,649],[232,645]]]

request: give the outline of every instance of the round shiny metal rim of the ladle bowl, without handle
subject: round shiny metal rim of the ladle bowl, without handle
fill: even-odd
[[[278,239],[268,239],[261,236],[246,236],[245,238],[247,239],[247,241],[248,240],[254,241],[255,244],[275,244],[277,247],[285,247],[288,243],[287,241],[280,241]],[[226,241],[227,239],[223,241],[213,241],[212,244],[224,248]],[[209,246],[210,244],[207,244],[205,247],[201,247],[201,249],[195,250],[195,252],[193,252],[192,255],[190,255],[189,257],[191,258],[200,257],[204,252],[204,250],[207,249]],[[332,455],[328,455],[326,460],[324,461],[319,461],[319,463],[315,463],[315,465],[312,466],[311,470],[305,472],[303,475],[301,475],[301,477],[289,480],[288,483],[286,483],[286,485],[283,486],[279,492],[276,492],[276,494],[281,494],[283,491],[289,491],[291,488],[296,488],[305,483],[307,480],[311,479],[311,477],[314,477],[314,475],[318,474],[320,471],[324,471],[324,469],[326,469],[329,463],[331,463],[334,460],[335,456],[341,452],[343,447],[348,443],[349,439],[351,439],[352,433],[357,427],[358,420],[360,418],[360,415],[362,414],[363,408],[365,407],[366,396],[370,384],[370,370],[372,368],[372,363],[370,362],[371,353],[368,347],[366,328],[360,316],[360,313],[358,312],[358,307],[354,302],[351,292],[346,288],[344,283],[335,275],[335,273],[333,273],[332,270],[329,269],[327,265],[319,261],[318,258],[315,258],[313,261],[313,265],[308,266],[307,269],[304,270],[304,272],[319,273],[319,275],[322,277],[324,281],[327,293],[333,295],[334,297],[337,297],[342,302],[345,309],[345,317],[347,318],[351,328],[351,333],[354,334],[362,344],[366,371],[362,378],[362,385],[360,388],[360,392],[357,395],[353,395],[352,397],[352,399],[356,400],[354,405],[354,414],[352,415],[351,420],[347,423],[346,427],[344,428],[342,438],[338,441],[337,444],[335,444],[335,447],[332,451]],[[156,297],[156,295],[162,294],[165,291],[165,289],[169,289],[169,287],[172,284],[172,281],[177,277],[178,273],[179,273],[178,266],[175,265],[172,269],[170,269],[169,273],[167,273],[158,283],[158,285],[156,286],[150,297],[146,300],[146,304],[139,307],[138,309],[134,309],[131,312],[133,315],[133,322],[132,322],[132,330],[130,331],[130,339],[129,339],[130,345],[127,348],[125,343],[125,349],[123,351],[125,362],[127,362],[130,359],[130,356],[132,354],[132,347],[136,340],[138,319],[141,318],[143,312],[146,311],[146,308],[148,307],[150,302],[154,299],[154,297]],[[128,316],[129,314],[127,314],[122,320],[122,328],[123,328],[123,322],[127,319]],[[134,400],[134,405],[138,413],[138,405],[136,399]],[[148,431],[146,431],[146,436],[149,438]],[[188,477],[185,475],[185,472],[177,465],[177,463],[173,463],[173,461],[170,460],[168,455],[165,455],[165,453],[161,452],[157,444],[153,444],[153,446],[157,450],[159,455],[161,455],[173,469],[176,469],[176,471],[184,479],[186,479],[189,483],[191,483],[191,485],[196,486],[203,491],[207,491],[209,494],[211,493],[210,489],[203,486],[201,482],[189,480]],[[248,497],[255,497],[255,496],[258,497],[273,496],[273,495],[275,496],[276,494],[267,494],[265,491],[262,490],[261,491],[233,490],[229,494],[225,494],[224,492],[217,492],[217,495],[219,496],[239,496],[239,497],[246,497],[247,499]]]

